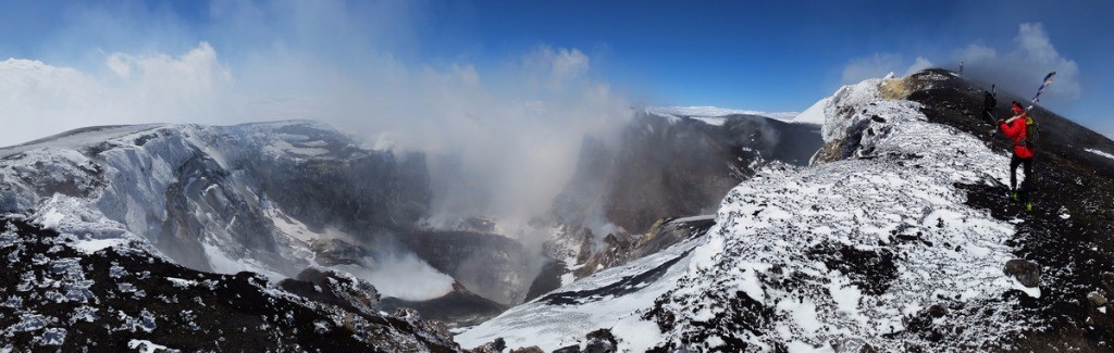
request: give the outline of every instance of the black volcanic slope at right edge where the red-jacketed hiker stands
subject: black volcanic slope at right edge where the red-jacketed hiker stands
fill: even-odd
[[[983,91],[988,84],[954,77],[947,70],[926,70],[907,80],[931,85],[911,91],[909,100],[922,104],[929,121],[949,125],[978,136],[1001,154],[1012,143],[998,134],[981,112]],[[1053,86],[1049,89],[1056,89]],[[1028,101],[999,92],[998,117],[1006,117],[1012,100]],[[1026,298],[1022,311],[1043,327],[1018,335],[1018,351],[1108,351],[1114,344],[1114,317],[1102,313],[1087,295],[1103,286],[1103,274],[1114,268],[1114,160],[1087,151],[1114,151],[1114,141],[1065,117],[1037,106],[1032,115],[1039,124],[1036,147],[1035,209],[1025,212],[1004,195],[1004,187],[969,185],[968,204],[985,208],[996,218],[1023,218],[1012,242],[1018,258],[1038,265],[1039,298]],[[1003,165],[1003,169],[1008,166]],[[1020,171],[1020,170],[1018,170]],[[1005,266],[1006,264],[1003,264]],[[1073,303],[1078,303],[1073,304]]]

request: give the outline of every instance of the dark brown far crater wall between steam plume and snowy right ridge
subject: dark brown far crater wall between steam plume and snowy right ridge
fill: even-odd
[[[817,125],[744,115],[713,125],[639,112],[614,146],[584,140],[555,213],[569,225],[603,220],[593,219],[602,214],[642,234],[663,217],[711,213],[765,163],[804,165],[820,145]]]

